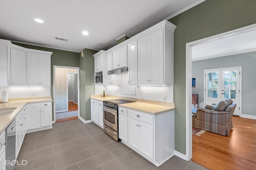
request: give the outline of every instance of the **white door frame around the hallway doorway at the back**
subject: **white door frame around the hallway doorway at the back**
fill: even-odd
[[[78,117],[80,117],[80,82],[79,82],[79,77],[80,77],[80,74],[79,74],[79,70],[80,68],[79,67],[71,67],[71,66],[57,66],[57,65],[54,65],[53,66],[53,116],[54,116],[54,120],[53,120],[53,123],[56,123],[56,101],[55,101],[55,68],[72,68],[72,69],[77,69],[77,90],[78,90]],[[67,81],[68,82],[68,81]],[[67,90],[68,92],[68,90]],[[67,100],[68,100],[68,94],[67,94]]]

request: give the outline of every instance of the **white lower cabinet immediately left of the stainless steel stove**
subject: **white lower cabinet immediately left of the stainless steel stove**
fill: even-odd
[[[91,120],[103,129],[103,102],[91,99]]]

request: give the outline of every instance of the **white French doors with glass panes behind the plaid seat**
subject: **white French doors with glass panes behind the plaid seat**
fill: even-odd
[[[220,100],[232,99],[236,103],[234,115],[240,115],[240,67],[204,70],[205,105],[218,103]]]

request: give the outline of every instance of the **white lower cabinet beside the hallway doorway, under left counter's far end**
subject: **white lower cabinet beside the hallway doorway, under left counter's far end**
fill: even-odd
[[[52,128],[52,102],[27,105],[28,133]]]

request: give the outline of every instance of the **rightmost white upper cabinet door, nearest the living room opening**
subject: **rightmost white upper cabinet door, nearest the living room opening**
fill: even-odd
[[[164,83],[164,30],[163,28],[149,35],[150,60],[149,81],[150,84]],[[168,73],[166,73],[168,74]]]

